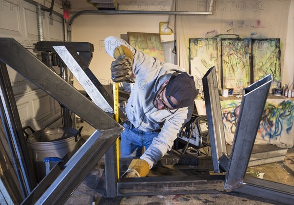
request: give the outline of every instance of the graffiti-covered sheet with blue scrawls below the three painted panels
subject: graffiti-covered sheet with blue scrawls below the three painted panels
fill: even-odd
[[[241,100],[221,101],[225,139],[228,144],[233,138],[238,123]],[[252,122],[256,123],[256,119]],[[294,145],[294,102],[290,99],[268,99],[261,117],[255,144],[274,144],[289,148]]]

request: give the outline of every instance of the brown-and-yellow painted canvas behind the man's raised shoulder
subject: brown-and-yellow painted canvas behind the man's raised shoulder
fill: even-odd
[[[159,33],[127,32],[127,36],[132,47],[164,62],[164,47]]]

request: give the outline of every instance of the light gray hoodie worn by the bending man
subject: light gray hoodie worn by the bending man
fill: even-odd
[[[141,131],[161,129],[146,152],[140,157],[149,164],[151,169],[158,160],[172,149],[182,127],[190,120],[194,104],[179,108],[174,114],[153,105],[153,100],[160,86],[170,78],[174,70],[183,71],[171,63],[161,63],[142,51],[132,48],[124,40],[117,37],[107,37],[104,40],[106,52],[113,57],[118,46],[126,46],[134,54],[133,72],[136,76],[134,88],[127,101],[125,112],[128,120]]]

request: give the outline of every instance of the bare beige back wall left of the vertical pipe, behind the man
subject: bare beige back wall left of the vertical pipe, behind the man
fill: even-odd
[[[159,22],[168,21],[167,15],[82,15],[75,19],[72,41],[86,41],[94,44],[91,71],[102,84],[110,84],[110,64],[113,61],[106,54],[103,42],[107,36],[118,36],[130,32],[159,33]],[[161,35],[162,41],[173,41],[172,35]],[[74,79],[74,87],[84,90]]]

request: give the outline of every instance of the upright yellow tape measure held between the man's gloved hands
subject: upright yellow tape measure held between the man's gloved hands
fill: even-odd
[[[119,83],[113,83],[113,111],[114,118],[119,122]],[[116,153],[117,153],[117,168],[118,168],[118,178],[120,178],[120,147],[119,138],[115,141]]]

